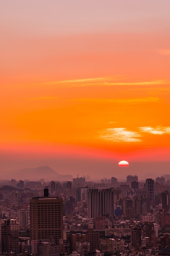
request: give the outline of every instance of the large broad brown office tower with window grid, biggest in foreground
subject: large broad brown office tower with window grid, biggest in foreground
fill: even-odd
[[[63,200],[57,197],[30,199],[30,238],[46,239],[53,236],[55,241],[63,238]]]

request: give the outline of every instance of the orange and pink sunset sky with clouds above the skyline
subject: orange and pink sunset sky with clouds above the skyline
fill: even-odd
[[[167,174],[169,10],[169,0],[1,0],[1,173]]]

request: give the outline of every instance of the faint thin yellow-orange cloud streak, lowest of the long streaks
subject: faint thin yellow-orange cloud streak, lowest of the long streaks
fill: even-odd
[[[75,99],[76,101],[92,101],[99,103],[144,103],[144,102],[155,102],[161,101],[161,99],[157,97],[147,97],[147,98],[139,98],[139,99]]]

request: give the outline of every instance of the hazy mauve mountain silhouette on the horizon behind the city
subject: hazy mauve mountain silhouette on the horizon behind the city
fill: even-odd
[[[39,166],[15,171],[13,177],[15,180],[56,180],[58,175],[59,174],[49,166]]]

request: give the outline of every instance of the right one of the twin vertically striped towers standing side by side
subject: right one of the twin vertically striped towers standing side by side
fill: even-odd
[[[114,195],[111,189],[102,189],[102,213],[101,216],[114,216]]]

